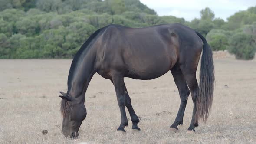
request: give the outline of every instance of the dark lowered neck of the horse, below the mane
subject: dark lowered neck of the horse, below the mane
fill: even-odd
[[[75,63],[73,63],[75,62]],[[95,52],[88,49],[85,54],[72,62],[68,79],[68,94],[72,97],[84,97],[89,82],[95,73]],[[83,99],[84,101],[84,99]]]

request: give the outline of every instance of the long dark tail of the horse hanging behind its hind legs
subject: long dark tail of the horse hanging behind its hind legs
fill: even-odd
[[[213,89],[215,81],[213,53],[206,39],[200,33],[197,33],[197,35],[203,41],[203,54],[201,58],[199,95],[197,95],[196,101],[197,109],[195,121],[202,119],[204,122],[206,122],[213,101]]]

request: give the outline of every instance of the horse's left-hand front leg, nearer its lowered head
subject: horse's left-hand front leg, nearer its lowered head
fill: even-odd
[[[125,127],[128,125],[128,120],[125,113],[125,83],[124,77],[122,75],[112,75],[112,81],[115,86],[115,93],[118,101],[118,106],[121,112],[121,124],[118,131],[124,131]]]

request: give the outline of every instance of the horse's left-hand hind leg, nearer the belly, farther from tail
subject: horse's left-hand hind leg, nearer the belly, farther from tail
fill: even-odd
[[[185,108],[187,105],[187,98],[188,98],[188,95],[190,94],[190,92],[187,87],[187,83],[184,79],[184,76],[181,72],[181,69],[179,68],[178,65],[175,65],[171,69],[171,73],[174,77],[174,82],[178,88],[180,98],[181,98],[181,104],[180,104],[180,108],[179,108],[177,117],[175,118],[174,123],[171,125],[171,128],[175,128],[176,130],[178,130],[177,126],[179,124],[183,124],[184,111],[185,111]]]

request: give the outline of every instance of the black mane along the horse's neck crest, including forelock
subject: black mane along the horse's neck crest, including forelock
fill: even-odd
[[[68,77],[68,88],[69,88],[69,82],[71,82],[71,78],[72,78],[72,72],[73,70],[75,69],[76,67],[76,64],[78,63],[78,60],[80,58],[80,56],[82,55],[82,53],[85,51],[85,49],[89,46],[89,44],[95,39],[95,37],[98,36],[98,34],[100,32],[102,32],[105,28],[105,27],[102,27],[101,29],[98,29],[96,30],[94,33],[92,33],[91,36],[89,36],[89,38],[85,41],[85,43],[81,46],[81,48],[78,50],[78,52],[75,54],[74,58],[73,58],[73,61],[71,63],[71,66],[70,66],[70,69],[69,69],[69,77]],[[67,92],[67,95],[66,96],[69,96],[69,91]],[[62,113],[62,116],[63,118],[65,117],[66,115],[66,108],[67,108],[67,101],[65,99],[62,99],[61,102],[60,102],[60,111]]]

